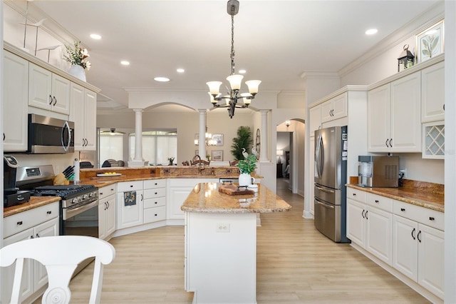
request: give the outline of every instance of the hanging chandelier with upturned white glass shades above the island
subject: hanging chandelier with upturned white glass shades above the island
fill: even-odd
[[[235,108],[248,108],[250,102],[258,93],[258,86],[261,83],[259,80],[250,80],[245,83],[249,87],[249,93],[239,93],[241,89],[241,82],[244,76],[235,74],[234,71],[234,15],[239,11],[239,1],[229,0],[227,3],[227,12],[231,15],[231,74],[227,77],[230,88],[227,87],[228,94],[220,94],[220,85],[222,81],[209,81],[209,95],[211,96],[211,103],[214,108],[228,108],[228,115],[230,118],[234,116]],[[238,103],[239,100],[239,103]],[[242,103],[240,102],[242,100]]]

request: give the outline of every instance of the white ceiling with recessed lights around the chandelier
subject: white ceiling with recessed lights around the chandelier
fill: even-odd
[[[432,1],[240,0],[236,69],[261,90],[304,91],[304,71],[339,71],[420,15]],[[128,105],[124,88],[207,91],[230,72],[227,1],[33,1],[89,50],[98,108]],[[367,29],[378,34],[367,36]],[[90,39],[90,34],[102,39]],[[120,61],[130,61],[121,66]],[[179,74],[176,69],[185,69]],[[167,76],[167,83],[154,81]],[[244,85],[245,86],[245,85]],[[224,87],[222,85],[221,89]],[[208,96],[209,102],[209,96]]]

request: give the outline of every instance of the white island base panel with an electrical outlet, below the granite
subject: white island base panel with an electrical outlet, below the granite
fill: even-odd
[[[257,303],[255,213],[186,213],[185,290],[193,303]]]

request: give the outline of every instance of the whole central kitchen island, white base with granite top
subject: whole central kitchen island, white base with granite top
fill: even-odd
[[[185,211],[185,290],[193,303],[257,303],[257,213],[291,208],[266,186],[230,196],[198,183]]]

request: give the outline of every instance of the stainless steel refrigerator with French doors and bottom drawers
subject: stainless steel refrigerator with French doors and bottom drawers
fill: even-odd
[[[314,222],[337,243],[346,237],[347,126],[315,131]]]

